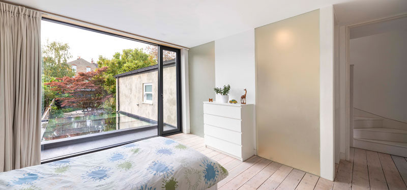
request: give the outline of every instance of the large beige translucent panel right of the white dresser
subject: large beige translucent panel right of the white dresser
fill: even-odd
[[[319,10],[255,29],[257,154],[319,175]]]

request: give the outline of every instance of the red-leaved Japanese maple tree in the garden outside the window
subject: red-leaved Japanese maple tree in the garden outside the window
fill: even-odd
[[[95,71],[79,72],[76,76],[56,78],[56,81],[47,83],[51,90],[59,93],[57,100],[62,100],[61,106],[80,107],[88,110],[89,107],[99,107],[106,99],[112,97],[103,87],[103,72],[107,67]]]

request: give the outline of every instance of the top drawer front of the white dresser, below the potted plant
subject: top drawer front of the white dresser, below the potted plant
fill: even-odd
[[[203,104],[203,113],[228,118],[240,119],[240,106],[218,105],[218,104]]]

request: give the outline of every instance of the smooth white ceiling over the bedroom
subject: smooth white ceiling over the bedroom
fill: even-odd
[[[385,6],[384,14],[407,9],[407,6],[401,8],[395,6],[407,0],[380,1],[391,4]],[[368,2],[380,4],[380,1]],[[359,6],[360,9],[352,9],[354,6],[352,0],[11,0],[10,2],[186,47],[335,4],[339,6],[338,19],[343,19],[343,23],[347,23],[353,20],[355,11],[357,13],[363,8]],[[366,4],[367,1],[362,2]],[[377,11],[376,8],[368,11]],[[349,15],[347,10],[354,13]],[[368,16],[363,19],[366,17]]]

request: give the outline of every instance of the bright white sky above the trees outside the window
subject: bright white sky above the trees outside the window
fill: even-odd
[[[92,59],[97,62],[99,55],[111,59],[115,52],[122,52],[123,49],[143,48],[145,50],[148,46],[137,41],[42,20],[41,45],[45,45],[47,39],[49,42],[68,43],[72,56],[68,62],[76,60],[79,56],[88,62]]]

